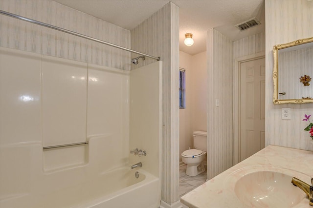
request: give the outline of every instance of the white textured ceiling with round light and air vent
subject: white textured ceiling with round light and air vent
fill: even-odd
[[[131,30],[169,0],[55,0],[101,20]],[[265,31],[264,0],[171,0],[179,6],[179,50],[195,55],[206,50],[206,32],[215,28],[230,40]],[[234,25],[256,17],[261,25],[240,31]],[[184,34],[194,44],[185,46]]]

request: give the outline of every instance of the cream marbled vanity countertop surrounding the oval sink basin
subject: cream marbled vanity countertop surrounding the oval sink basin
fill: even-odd
[[[289,175],[292,172],[294,174],[292,176],[311,185],[313,151],[267,146],[182,196],[180,202],[189,208],[244,208],[245,205],[239,201],[234,192],[235,183],[243,175],[260,170],[277,170]],[[293,171],[299,172],[299,174],[295,174]],[[306,176],[304,177],[304,175]],[[303,194],[305,195],[304,192]],[[308,197],[305,197],[294,208],[313,207],[309,205]]]

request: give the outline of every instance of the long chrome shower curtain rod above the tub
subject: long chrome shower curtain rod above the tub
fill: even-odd
[[[129,52],[132,52],[132,53],[136,53],[136,54],[139,54],[139,55],[142,55],[142,56],[145,56],[145,57],[149,57],[151,59],[156,59],[157,61],[161,60],[160,57],[150,56],[148,54],[140,53],[138,51],[134,51],[134,50],[131,50],[131,49],[119,46],[119,45],[112,44],[110,42],[101,41],[99,39],[95,39],[95,38],[92,38],[92,37],[89,37],[89,36],[86,36],[86,35],[83,35],[83,34],[80,34],[80,33],[76,33],[76,32],[73,32],[73,31],[70,31],[70,30],[67,30],[67,29],[63,29],[61,27],[53,26],[51,24],[46,24],[46,23],[41,22],[41,21],[28,19],[28,18],[19,16],[19,15],[16,15],[16,14],[12,14],[10,12],[6,12],[6,11],[3,11],[3,10],[0,10],[0,14],[6,15],[6,16],[9,16],[9,17],[13,17],[13,18],[16,18],[16,19],[19,19],[19,20],[22,20],[22,21],[28,21],[28,22],[31,22],[31,23],[34,23],[34,24],[38,24],[38,25],[41,25],[41,26],[44,26],[44,27],[51,28],[51,29],[59,30],[61,32],[65,32],[65,33],[68,33],[68,34],[71,34],[71,35],[75,35],[75,36],[78,36],[78,37],[81,37],[81,38],[85,38],[85,39],[88,39],[90,41],[100,42],[100,43],[103,43],[103,44],[106,44],[106,45],[110,45],[110,46],[115,47],[115,48],[119,48],[119,49],[126,50],[126,51],[129,51]]]

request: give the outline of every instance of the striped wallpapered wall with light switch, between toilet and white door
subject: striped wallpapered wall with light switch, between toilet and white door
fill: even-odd
[[[215,29],[207,32],[207,176],[233,164],[232,42]],[[217,107],[216,99],[219,99]]]

